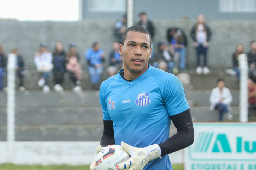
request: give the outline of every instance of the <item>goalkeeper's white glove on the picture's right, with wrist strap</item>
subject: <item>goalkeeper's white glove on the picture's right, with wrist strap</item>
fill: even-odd
[[[124,170],[126,168],[129,168],[128,170],[143,170],[144,166],[149,161],[152,161],[161,155],[161,149],[157,144],[145,148],[137,148],[121,142],[121,146],[131,157],[128,161],[118,166],[119,170]]]

